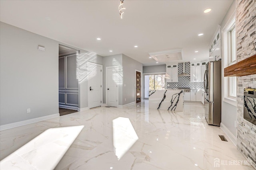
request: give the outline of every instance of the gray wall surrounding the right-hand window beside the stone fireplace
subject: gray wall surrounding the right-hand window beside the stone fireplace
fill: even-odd
[[[221,22],[221,29],[226,25],[232,14],[236,11],[236,2],[234,1],[228,12],[226,13],[226,16],[223,18]],[[223,43],[221,49],[223,50]],[[223,53],[222,53],[223,54]],[[222,76],[224,76],[224,68],[222,68]],[[236,106],[233,106],[231,104],[228,104],[224,101],[222,101],[222,111],[221,111],[221,123],[225,125],[228,130],[236,137],[236,127],[235,127],[235,121],[236,121]]]

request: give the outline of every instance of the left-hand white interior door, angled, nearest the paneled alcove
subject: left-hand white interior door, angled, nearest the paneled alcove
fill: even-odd
[[[102,65],[89,62],[88,75],[89,108],[102,105]]]

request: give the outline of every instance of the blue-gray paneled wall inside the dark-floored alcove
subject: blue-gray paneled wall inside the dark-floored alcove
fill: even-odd
[[[59,57],[59,107],[78,109],[76,54]]]

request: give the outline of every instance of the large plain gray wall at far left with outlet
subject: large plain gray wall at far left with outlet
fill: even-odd
[[[58,46],[58,41],[0,22],[0,125],[59,112]]]

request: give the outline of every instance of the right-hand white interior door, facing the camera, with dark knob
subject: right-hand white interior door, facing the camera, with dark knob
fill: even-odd
[[[106,93],[107,93],[107,105],[117,107],[118,104],[118,71],[116,67],[107,68],[106,78]]]

